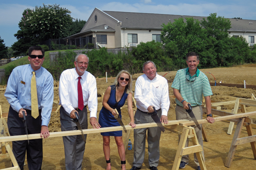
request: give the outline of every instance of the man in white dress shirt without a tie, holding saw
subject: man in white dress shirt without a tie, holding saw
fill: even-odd
[[[137,111],[134,116],[135,124],[152,123],[153,107],[161,122],[168,123],[167,112],[170,106],[167,80],[157,75],[154,62],[143,64],[143,75],[138,77],[135,85],[134,98],[137,101]],[[151,170],[157,170],[160,158],[159,127],[134,129],[134,162],[131,170],[140,170],[145,156],[145,136],[148,130],[148,164]]]

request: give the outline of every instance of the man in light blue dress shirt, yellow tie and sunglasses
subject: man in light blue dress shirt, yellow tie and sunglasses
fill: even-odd
[[[52,112],[53,78],[42,66],[44,49],[39,46],[29,48],[28,65],[21,65],[13,69],[6,87],[5,96],[10,104],[8,114],[8,129],[11,136],[26,135],[23,114],[29,134],[40,133],[41,138],[49,136],[48,124]],[[35,119],[31,115],[31,79],[35,71],[36,89],[38,97],[39,116]],[[43,161],[43,140],[33,139],[12,142],[12,150],[23,170],[27,152],[29,170],[41,170]]]

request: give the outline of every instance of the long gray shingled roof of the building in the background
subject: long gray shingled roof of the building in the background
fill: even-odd
[[[174,19],[183,17],[193,17],[196,20],[207,19],[207,17],[189,16],[189,15],[170,15],[170,14],[150,14],[137,12],[119,12],[119,11],[103,11],[111,17],[122,22],[122,28],[137,28],[137,29],[162,29],[162,25],[173,23]],[[230,19],[231,26],[229,31],[239,32],[256,32],[256,20],[240,20]],[[249,24],[250,23],[250,24]]]

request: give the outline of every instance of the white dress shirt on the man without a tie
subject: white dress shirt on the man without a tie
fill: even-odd
[[[167,80],[158,74],[150,80],[143,74],[138,77],[135,84],[134,98],[137,101],[137,108],[148,112],[148,106],[152,105],[162,109],[162,115],[167,116],[170,107],[169,88]]]

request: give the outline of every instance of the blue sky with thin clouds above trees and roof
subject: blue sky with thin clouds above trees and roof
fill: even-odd
[[[26,8],[57,4],[71,11],[71,17],[88,20],[94,8],[102,11],[142,12],[256,20],[256,0],[1,0],[0,37],[6,46],[17,41],[14,34]]]

